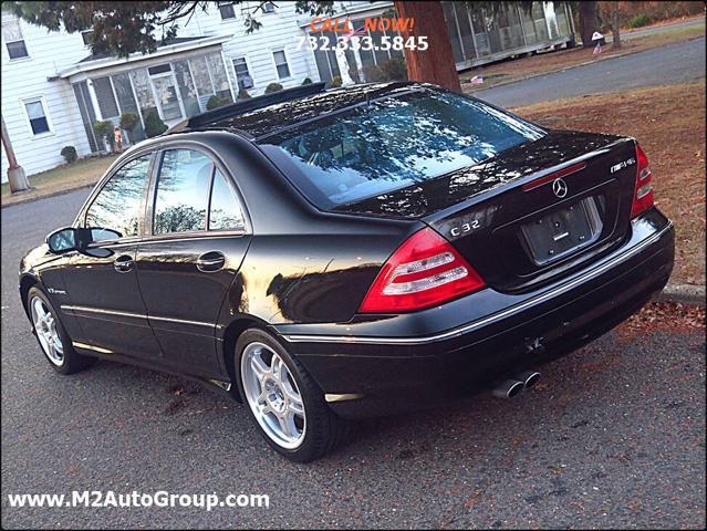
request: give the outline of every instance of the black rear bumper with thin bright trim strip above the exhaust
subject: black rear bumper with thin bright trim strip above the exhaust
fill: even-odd
[[[663,289],[673,270],[672,223],[653,209],[632,232],[591,268],[536,292],[487,289],[416,314],[278,332],[342,416],[472,393],[572,352]]]

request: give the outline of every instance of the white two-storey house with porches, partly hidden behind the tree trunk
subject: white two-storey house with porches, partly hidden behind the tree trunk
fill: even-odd
[[[564,2],[537,2],[531,14],[516,9],[492,20],[466,3],[443,4],[458,69],[570,39]],[[302,45],[311,15],[297,13],[295,3],[288,1],[266,3],[256,13],[261,28],[247,34],[247,15],[258,6],[259,1],[243,1],[207,12],[197,9],[174,40],[154,53],[127,59],[92,55],[91,31],[50,32],[3,12],[2,116],[27,175],[63,164],[64,146],[74,146],[80,157],[104,150],[93,132],[96,121],[118,124],[122,113],[137,114],[139,124],[133,138],[126,138],[136,142],[145,137],[150,112],[174,125],[204,112],[215,95],[232,101],[240,90],[258,95],[270,83],[290,87],[308,77],[331,82],[340,76],[344,84],[366,81],[370,69],[403,58],[395,50],[312,51]],[[334,7],[340,19],[349,18],[351,29],[360,29],[366,17],[385,13],[393,2],[341,1]],[[386,34],[361,31],[374,44]],[[313,35],[335,38],[321,31]],[[2,181],[7,169],[3,148]]]

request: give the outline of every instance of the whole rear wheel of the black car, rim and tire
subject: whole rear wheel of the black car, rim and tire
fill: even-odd
[[[268,333],[243,332],[236,344],[238,385],[251,419],[279,454],[308,462],[331,451],[345,424],[329,408],[302,364]]]

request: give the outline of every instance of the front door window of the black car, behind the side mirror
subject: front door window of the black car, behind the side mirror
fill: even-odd
[[[113,174],[89,207],[86,227],[112,229],[124,238],[137,236],[150,157],[135,158]]]

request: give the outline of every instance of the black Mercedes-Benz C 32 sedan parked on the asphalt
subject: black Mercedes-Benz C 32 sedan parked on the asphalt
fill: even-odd
[[[344,419],[537,368],[659,291],[674,259],[635,139],[418,83],[311,84],[123,154],[20,267],[51,366],[198,378],[297,461]]]

